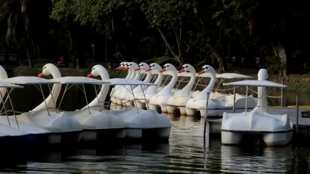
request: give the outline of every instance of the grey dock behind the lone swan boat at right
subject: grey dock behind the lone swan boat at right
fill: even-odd
[[[302,137],[310,138],[310,118],[302,118],[301,112],[308,111],[310,109],[298,109],[298,123],[297,114],[295,107],[279,107],[279,108],[269,108],[268,112],[272,114],[288,114],[291,122],[294,125],[294,131]],[[220,134],[222,119],[212,119],[207,118],[209,123],[210,134]]]

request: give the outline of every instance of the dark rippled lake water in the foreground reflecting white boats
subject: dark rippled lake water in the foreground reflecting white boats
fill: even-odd
[[[167,115],[167,143],[105,142],[97,147],[1,149],[0,172],[8,173],[308,173],[310,149],[223,146],[203,141],[200,118]],[[189,128],[189,129],[188,129]],[[109,146],[110,145],[110,146]]]

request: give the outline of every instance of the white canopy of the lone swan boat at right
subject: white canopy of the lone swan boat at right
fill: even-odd
[[[235,81],[231,83],[223,83],[223,85],[230,86],[267,86],[267,87],[278,87],[278,88],[286,88],[287,85],[276,83],[268,80],[243,80],[243,81]]]

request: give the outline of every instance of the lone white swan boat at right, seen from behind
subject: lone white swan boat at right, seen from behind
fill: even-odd
[[[258,143],[257,139],[261,138],[266,146],[282,146],[292,140],[293,124],[290,118],[287,114],[268,113],[266,97],[266,88],[285,88],[287,86],[267,81],[268,74],[266,69],[261,69],[258,77],[258,80],[244,80],[224,84],[246,86],[247,91],[249,86],[257,86],[259,99],[255,108],[249,112],[223,113],[221,127],[223,144],[239,144],[242,141],[249,141],[255,137],[254,143]],[[246,138],[246,135],[249,136]]]

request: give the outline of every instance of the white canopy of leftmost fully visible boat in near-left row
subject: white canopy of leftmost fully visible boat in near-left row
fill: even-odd
[[[12,78],[4,79],[3,81],[14,84],[54,84],[59,83],[55,81],[50,81],[45,78],[35,77],[35,76],[17,76]]]

